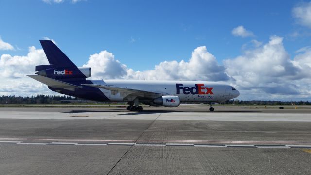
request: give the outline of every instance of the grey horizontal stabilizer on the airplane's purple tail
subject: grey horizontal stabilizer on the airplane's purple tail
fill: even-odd
[[[74,91],[75,88],[82,88],[81,86],[62,82],[62,81],[55,80],[52,78],[48,78],[48,77],[41,76],[41,75],[27,75],[27,76],[29,76],[30,78],[33,78],[33,79],[35,79],[35,80],[37,80],[43,84],[46,84],[52,88],[64,88],[64,89],[71,90],[71,91]]]

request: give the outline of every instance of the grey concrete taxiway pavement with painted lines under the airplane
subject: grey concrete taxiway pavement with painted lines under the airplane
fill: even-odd
[[[311,174],[311,108],[0,108],[0,174]]]

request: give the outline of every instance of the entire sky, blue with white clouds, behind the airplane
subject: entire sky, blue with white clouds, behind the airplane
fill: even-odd
[[[311,101],[311,1],[0,0],[0,18],[0,95],[51,93],[25,77],[47,63],[46,37],[95,79],[217,81],[242,100]]]

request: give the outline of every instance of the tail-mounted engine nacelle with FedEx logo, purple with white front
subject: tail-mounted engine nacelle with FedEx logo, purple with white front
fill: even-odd
[[[49,78],[88,78],[91,77],[91,68],[47,68],[36,72],[41,76]]]

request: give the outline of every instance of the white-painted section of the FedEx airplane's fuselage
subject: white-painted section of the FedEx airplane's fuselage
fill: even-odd
[[[239,96],[238,90],[230,85],[205,81],[160,81],[160,80],[91,80],[94,84],[148,90],[178,96],[180,102],[219,102]],[[234,90],[233,90],[234,89]],[[121,93],[100,89],[104,95],[115,102],[127,102]]]

